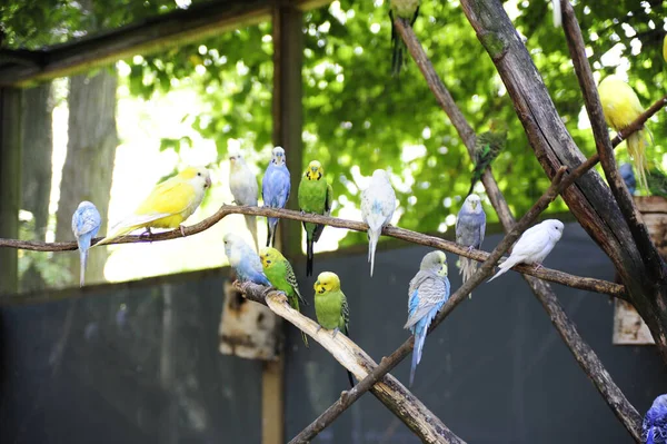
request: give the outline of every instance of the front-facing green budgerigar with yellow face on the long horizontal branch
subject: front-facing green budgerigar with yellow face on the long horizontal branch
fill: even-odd
[[[308,164],[303,177],[299,182],[299,208],[303,213],[329,216],[331,213],[331,203],[334,201],[334,190],[331,184],[327,182],[322,165],[312,160]],[[312,245],[319,240],[323,225],[303,223],[306,229],[306,276],[312,276]]]

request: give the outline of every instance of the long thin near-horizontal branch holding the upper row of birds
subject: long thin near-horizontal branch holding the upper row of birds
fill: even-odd
[[[299,221],[310,221],[313,224],[323,224],[329,225],[337,228],[346,228],[355,231],[366,231],[368,229],[368,225],[361,221],[340,219],[337,217],[330,216],[320,216],[320,215],[309,215],[301,214],[301,211],[293,211],[288,209],[275,209],[268,207],[246,207],[246,206],[236,206],[236,205],[222,205],[220,209],[213,214],[212,216],[201,220],[196,225],[191,225],[189,227],[185,227],[186,236],[192,236],[197,233],[201,233],[222,218],[232,215],[232,214],[241,214],[241,215],[250,215],[250,216],[265,216],[265,217],[278,217],[282,219],[291,219]],[[440,239],[439,237],[424,235],[421,233],[412,231],[405,228],[398,228],[394,226],[388,226],[382,230],[382,235],[395,237],[397,239],[407,240],[412,244],[425,245],[429,247],[440,248],[449,253],[454,253],[459,256],[469,257],[471,259],[484,262],[488,258],[489,254],[482,250],[472,249],[469,250],[468,247],[458,245],[450,240]],[[182,237],[180,229],[175,229],[171,231],[158,233],[153,234],[150,237],[147,236],[125,236],[118,239],[112,240],[109,244],[133,244],[133,243],[150,243],[150,241],[159,241],[159,240],[168,240],[176,239]],[[92,245],[97,244],[103,239],[102,237],[96,237],[92,240]],[[41,243],[36,240],[16,240],[16,239],[1,239],[0,238],[0,247],[8,248],[21,248],[21,249],[30,249],[36,251],[66,251],[66,250],[74,250],[77,249],[76,241],[68,243]],[[555,270],[551,268],[540,268],[538,270],[535,269],[534,266],[530,265],[517,265],[512,267],[514,270],[527,274],[530,276],[538,277],[540,279],[546,279],[552,283],[561,284],[568,287],[578,288],[587,292],[601,293],[605,295],[618,297],[625,299],[625,288],[623,285],[610,283],[607,280],[596,279],[591,277],[580,277],[574,276],[564,272]]]

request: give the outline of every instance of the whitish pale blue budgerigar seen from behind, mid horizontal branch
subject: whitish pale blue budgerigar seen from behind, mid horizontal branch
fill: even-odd
[[[375,264],[375,250],[382,233],[389,225],[396,209],[396,193],[384,169],[372,172],[370,185],[361,193],[361,218],[368,224],[368,262],[370,276]]]

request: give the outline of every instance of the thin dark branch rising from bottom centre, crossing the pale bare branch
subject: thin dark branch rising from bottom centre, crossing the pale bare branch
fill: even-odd
[[[466,299],[466,296],[470,294],[475,287],[480,285],[487,277],[494,272],[494,267],[502,257],[509,247],[519,238],[526,229],[535,221],[537,216],[541,214],[558,196],[559,187],[561,185],[563,176],[565,175],[566,168],[563,167],[554,179],[551,185],[545,191],[545,194],[535,203],[535,205],[524,215],[515,227],[500,240],[498,246],[491,251],[491,254],[481,264],[479,269],[466,280],[455,293],[451,295],[447,304],[442,307],[440,313],[436,316],[428,334],[432,333],[435,328],[456,308],[461,302]],[[375,383],[380,381],[387,373],[396,367],[412,349],[415,338],[410,337],[400,347],[398,347],[389,357],[384,357],[380,365],[374,368],[359,384],[357,384],[351,391],[345,393],[340,398],[327,408],[320,416],[317,417],[310,425],[301,431],[290,444],[307,443],[312,440],[319,432],[329,426],[342,412],[345,412],[355,401],[357,401],[364,393],[366,393]]]

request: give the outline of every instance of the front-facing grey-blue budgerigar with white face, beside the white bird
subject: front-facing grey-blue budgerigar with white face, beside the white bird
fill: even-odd
[[[481,199],[477,195],[466,197],[456,219],[456,243],[465,245],[468,250],[479,249],[486,233],[486,213],[481,206]],[[460,257],[459,274],[464,283],[477,270],[477,260]],[[468,297],[472,297],[470,293]]]

